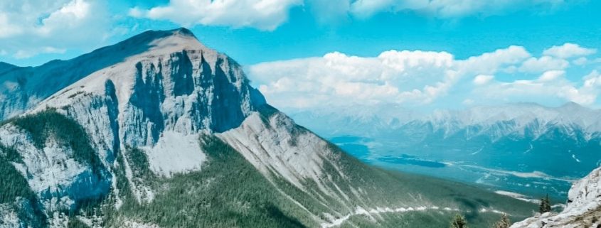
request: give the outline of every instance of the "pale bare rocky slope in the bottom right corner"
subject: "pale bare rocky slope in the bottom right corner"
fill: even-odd
[[[547,212],[516,222],[511,228],[600,227],[601,168],[574,183],[568,193],[568,205],[560,213]]]

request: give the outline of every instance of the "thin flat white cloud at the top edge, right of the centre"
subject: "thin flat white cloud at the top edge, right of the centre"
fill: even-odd
[[[519,9],[555,9],[563,0],[358,0],[351,4],[351,13],[368,17],[379,12],[415,11],[437,18],[461,18],[472,15],[497,15]]]

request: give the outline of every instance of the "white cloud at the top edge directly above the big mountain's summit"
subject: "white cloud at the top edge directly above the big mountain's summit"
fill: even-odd
[[[271,31],[287,21],[289,9],[302,0],[171,0],[149,10],[133,8],[129,16],[169,20],[182,26],[252,27]]]

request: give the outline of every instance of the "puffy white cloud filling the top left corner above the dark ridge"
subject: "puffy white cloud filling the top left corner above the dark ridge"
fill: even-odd
[[[106,6],[95,0],[1,1],[0,49],[14,58],[64,53],[107,37]]]

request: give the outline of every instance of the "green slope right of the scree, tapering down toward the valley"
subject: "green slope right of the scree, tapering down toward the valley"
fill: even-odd
[[[498,215],[493,212],[480,212],[482,208],[494,207],[511,215],[514,220],[530,217],[531,211],[536,210],[536,205],[530,202],[498,195],[479,186],[364,165],[336,145],[330,143],[329,147],[336,152],[334,156],[340,156],[335,161],[339,161],[338,166],[344,170],[349,178],[348,182],[353,188],[362,188],[368,192],[364,197],[368,198],[373,206],[435,205],[440,208],[457,208],[465,213],[470,227],[488,227],[498,219]],[[339,182],[336,184],[343,185]],[[429,222],[430,227],[444,227],[448,224],[452,215],[443,216],[442,223],[436,222],[439,219],[433,219]]]

